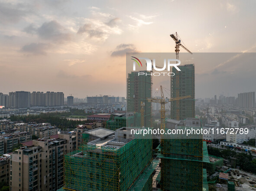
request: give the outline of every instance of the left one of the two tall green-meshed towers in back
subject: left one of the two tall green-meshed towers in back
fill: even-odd
[[[140,71],[146,72],[146,71]],[[141,102],[144,106],[144,126],[151,126],[152,104],[147,98],[152,97],[151,75],[138,75],[138,72],[131,72],[127,78],[127,112],[140,113]],[[136,124],[140,126],[140,124]]]

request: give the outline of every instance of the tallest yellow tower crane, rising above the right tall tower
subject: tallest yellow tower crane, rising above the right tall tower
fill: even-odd
[[[176,43],[176,45],[175,45],[176,59],[179,59],[178,53],[180,51],[180,47],[184,48],[188,53],[193,54],[193,53],[191,53],[190,50],[188,50],[185,46],[183,46],[181,44],[181,40],[179,39],[179,36],[178,36],[177,32],[175,34],[170,34],[170,37],[172,37],[172,39]],[[178,72],[179,71],[177,70],[176,73],[178,73]],[[172,86],[172,76],[171,76],[171,86]],[[177,86],[177,88],[176,88],[176,97],[179,97],[179,75],[176,75],[176,86]],[[171,92],[171,95],[172,95],[172,92]],[[180,118],[179,100],[176,101],[176,107],[177,107],[176,117],[177,117],[177,120],[179,120],[179,118]]]

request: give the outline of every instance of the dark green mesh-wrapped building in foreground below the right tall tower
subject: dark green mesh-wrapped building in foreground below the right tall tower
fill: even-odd
[[[200,119],[190,118],[186,123],[187,125],[198,124],[193,126],[194,129],[201,128]],[[177,128],[183,130],[191,128],[187,125]],[[165,128],[165,131],[167,129]],[[162,190],[203,190],[203,162],[208,156],[204,157],[202,135],[190,135],[188,138],[186,135],[164,135],[162,137],[161,154],[158,155],[161,158],[160,185]]]

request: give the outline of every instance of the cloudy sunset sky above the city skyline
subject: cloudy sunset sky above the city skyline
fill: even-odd
[[[255,7],[255,0],[0,0],[0,92],[125,96],[126,52],[174,52],[176,31],[193,53],[256,52]],[[255,59],[235,67],[229,59],[194,63],[197,97],[256,91]]]

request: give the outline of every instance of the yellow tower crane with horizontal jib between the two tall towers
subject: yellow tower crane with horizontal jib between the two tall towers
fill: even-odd
[[[161,104],[161,130],[165,130],[165,104],[171,101],[176,101],[176,100],[182,100],[182,99],[186,99],[191,97],[190,95],[188,96],[182,96],[182,97],[171,97],[171,98],[167,98],[165,99],[164,97],[164,93],[163,93],[163,89],[162,89],[162,85],[160,86],[161,89],[161,97],[160,98],[147,98],[147,100],[149,102],[155,102],[155,103],[160,103]],[[162,135],[161,135],[161,142],[162,142]]]

